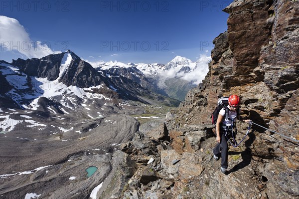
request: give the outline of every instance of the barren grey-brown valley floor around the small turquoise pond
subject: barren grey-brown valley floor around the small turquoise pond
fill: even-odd
[[[170,109],[140,102],[103,107],[108,111],[98,118],[84,112],[96,109],[93,104],[75,114],[53,115],[59,119],[22,110],[13,114],[15,121],[25,120],[0,134],[1,199],[30,193],[49,199],[88,199],[97,182],[114,175],[113,161],[122,158],[117,157],[120,144],[132,140],[140,125],[149,130],[162,124]],[[85,170],[92,166],[97,175],[87,177]]]

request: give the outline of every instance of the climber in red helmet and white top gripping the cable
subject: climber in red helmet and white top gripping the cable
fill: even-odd
[[[219,160],[221,156],[221,172],[227,174],[228,159],[228,138],[232,136],[233,126],[239,115],[240,98],[238,95],[231,95],[228,98],[228,105],[220,110],[216,122],[216,141],[218,142],[213,149],[215,160]],[[244,120],[249,123],[251,120]],[[226,136],[225,136],[226,134]]]

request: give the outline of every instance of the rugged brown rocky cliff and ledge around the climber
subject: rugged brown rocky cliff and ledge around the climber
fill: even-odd
[[[299,198],[299,143],[253,126],[230,147],[229,174],[212,158],[211,113],[219,97],[241,97],[241,116],[299,140],[299,1],[235,0],[213,41],[202,84],[165,125],[122,146],[138,168],[120,198]],[[240,140],[247,124],[237,123]]]

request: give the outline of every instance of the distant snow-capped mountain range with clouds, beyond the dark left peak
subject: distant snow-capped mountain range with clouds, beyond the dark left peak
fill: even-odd
[[[201,57],[192,62],[185,57],[176,56],[165,65],[110,61],[96,66],[96,69],[106,70],[111,75],[121,73],[153,92],[182,101],[187,92],[204,78],[209,61],[210,57]]]

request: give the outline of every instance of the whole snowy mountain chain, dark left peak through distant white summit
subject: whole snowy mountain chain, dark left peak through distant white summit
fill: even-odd
[[[206,61],[176,56],[165,65],[110,61],[94,68],[70,50],[41,59],[0,61],[1,106],[50,114],[74,111],[90,98],[99,104],[156,100],[178,105],[169,97],[183,100],[195,86],[186,77],[200,68],[204,77]]]

